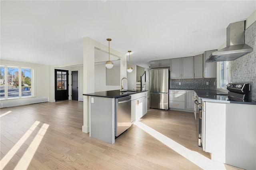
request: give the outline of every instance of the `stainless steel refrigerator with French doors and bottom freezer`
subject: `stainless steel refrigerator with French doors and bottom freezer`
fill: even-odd
[[[150,108],[168,110],[169,69],[150,71]]]

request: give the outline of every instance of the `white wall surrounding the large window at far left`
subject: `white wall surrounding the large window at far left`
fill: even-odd
[[[2,107],[28,105],[49,101],[49,66],[35,63],[24,63],[19,61],[0,60],[1,65],[31,67],[34,69],[34,97],[4,99],[1,100]]]

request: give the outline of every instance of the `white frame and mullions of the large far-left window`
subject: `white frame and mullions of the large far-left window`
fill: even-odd
[[[24,99],[24,98],[30,98],[30,97],[36,97],[35,94],[35,68],[31,67],[29,65],[17,65],[17,64],[6,64],[1,63],[0,67],[4,67],[4,98],[0,99],[1,101],[4,100],[12,100],[12,99]],[[18,68],[18,97],[11,97],[8,98],[8,68]],[[31,69],[31,95],[30,96],[22,96],[22,79],[21,79],[21,71],[22,69]]]

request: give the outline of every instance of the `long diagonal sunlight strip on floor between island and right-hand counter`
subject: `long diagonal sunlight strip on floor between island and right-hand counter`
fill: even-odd
[[[135,122],[134,125],[141,128],[142,130],[144,130],[145,132],[147,132],[148,134],[150,134],[151,136],[153,136],[154,138],[156,138],[157,140],[159,140],[160,142],[162,142],[163,144],[165,144],[178,154],[182,155],[186,159],[190,160],[202,169],[226,170],[223,163],[210,160],[202,154],[182,146],[181,144],[175,142],[167,136],[164,136],[160,132],[154,130],[153,128],[145,125],[142,122]]]

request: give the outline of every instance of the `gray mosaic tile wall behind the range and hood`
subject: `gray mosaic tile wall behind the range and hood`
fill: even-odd
[[[250,98],[256,101],[256,22],[245,30],[245,43],[253,48],[251,53],[231,61],[230,81],[250,83]]]

